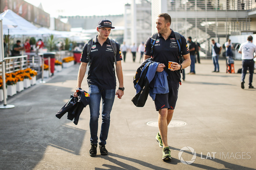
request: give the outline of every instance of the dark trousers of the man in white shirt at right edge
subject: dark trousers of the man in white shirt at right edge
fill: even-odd
[[[244,81],[247,69],[249,68],[249,85],[252,85],[252,77],[253,77],[253,69],[254,69],[254,61],[252,60],[243,60],[242,61],[242,76],[241,81]]]

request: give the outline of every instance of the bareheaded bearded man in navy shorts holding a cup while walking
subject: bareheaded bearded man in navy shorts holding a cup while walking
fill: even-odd
[[[156,135],[156,140],[159,146],[163,148],[163,160],[171,160],[171,151],[167,142],[168,124],[172,120],[172,115],[178,98],[178,90],[180,86],[180,70],[188,67],[191,63],[188,51],[186,38],[180,35],[181,51],[184,61],[179,64],[179,48],[172,29],[171,17],[167,13],[159,14],[156,18],[157,39],[153,48],[153,55],[151,52],[151,37],[148,38],[143,55],[144,60],[153,57],[155,62],[160,63],[156,69],[157,72],[166,71],[168,74],[167,81],[169,86],[169,93],[156,94],[155,106],[158,111],[158,127],[159,132]],[[171,45],[170,45],[171,44]],[[173,70],[168,69],[168,61]]]

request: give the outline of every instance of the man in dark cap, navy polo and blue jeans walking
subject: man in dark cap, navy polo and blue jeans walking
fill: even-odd
[[[90,156],[96,156],[98,143],[98,119],[100,115],[100,100],[102,99],[102,123],[100,130],[100,154],[107,155],[108,151],[105,147],[108,137],[108,129],[110,125],[110,112],[114,103],[115,95],[119,99],[124,95],[123,72],[122,72],[122,55],[119,44],[116,43],[117,53],[114,56],[114,50],[108,38],[112,26],[112,22],[103,19],[98,23],[98,35],[93,39],[90,52],[90,65],[88,70],[87,83],[89,85],[90,94],[90,132],[91,132],[91,149]],[[81,65],[77,76],[76,88],[81,88],[81,84],[85,75],[86,67],[89,62],[87,56],[87,46],[85,44],[82,55]],[[116,75],[115,75],[115,59],[116,57],[116,75],[119,82],[119,88],[116,91]],[[115,92],[116,91],[116,92]],[[77,94],[74,92],[74,96]]]

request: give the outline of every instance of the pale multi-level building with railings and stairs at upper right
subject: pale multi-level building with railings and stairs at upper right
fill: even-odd
[[[154,0],[152,0],[154,2]],[[210,55],[211,40],[221,45],[229,35],[256,33],[254,0],[159,0],[172,17],[171,28],[201,44]],[[152,10],[159,9],[152,3]],[[156,18],[156,15],[152,15]],[[246,40],[244,40],[246,41]],[[240,42],[241,43],[241,42]]]

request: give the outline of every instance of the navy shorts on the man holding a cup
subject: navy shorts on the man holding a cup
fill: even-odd
[[[169,93],[166,94],[156,94],[155,107],[156,111],[163,108],[174,109],[178,99],[178,91],[180,83],[168,84]]]

